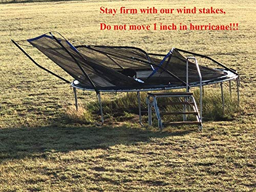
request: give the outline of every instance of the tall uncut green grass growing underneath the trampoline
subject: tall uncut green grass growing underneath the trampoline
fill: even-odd
[[[193,89],[194,97],[196,99],[198,109],[200,110],[200,91],[199,89]],[[147,119],[147,104],[146,104],[147,93],[141,92],[141,109],[142,115],[145,115],[144,120]],[[183,105],[168,105],[166,103],[179,101],[177,98],[159,98],[158,106],[160,111],[166,112],[176,112],[183,111]],[[227,91],[224,91],[224,101],[225,101],[225,110],[223,111],[222,107],[222,98],[221,92],[218,88],[206,88],[203,95],[203,118],[204,121],[223,121],[223,120],[232,120],[236,114],[242,113],[241,108],[239,108],[237,97],[230,96]],[[105,94],[102,96],[102,106],[104,118],[110,119],[113,121],[125,121],[138,115],[138,97],[137,93],[123,93],[119,95],[108,95]],[[86,105],[86,110],[90,114],[99,115],[99,103],[97,100],[92,101]],[[192,110],[192,109],[191,109]],[[77,112],[79,113],[79,112]],[[156,116],[154,115],[155,111],[153,108],[153,118],[155,119],[156,125]],[[85,116],[84,116],[85,117]],[[89,118],[89,117],[87,117]],[[91,119],[93,117],[91,116]],[[94,116],[95,118],[95,116]],[[97,116],[98,118],[98,116]],[[90,119],[90,118],[89,118]],[[164,121],[182,121],[182,115],[169,115],[165,116]],[[188,117],[190,120],[195,120],[195,116],[190,115]],[[96,120],[96,119],[95,119]]]

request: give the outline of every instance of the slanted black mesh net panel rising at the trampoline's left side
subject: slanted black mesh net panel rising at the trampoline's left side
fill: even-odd
[[[108,56],[90,50],[87,55],[81,53],[80,56],[74,49],[70,47],[68,42],[59,39],[60,43],[74,56],[79,65],[88,74],[96,88],[104,89],[108,87],[139,87],[140,83],[131,77],[127,77],[109,66],[116,66]],[[69,53],[58,44],[58,42],[49,36],[30,41],[34,47],[44,53],[59,67],[69,73],[72,77],[78,80],[86,87],[92,87],[92,84],[87,79],[86,74],[77,65],[76,61]],[[90,53],[91,52],[91,53]],[[90,54],[89,54],[90,53]],[[92,56],[94,55],[94,56]],[[96,58],[99,57],[99,60]],[[103,65],[108,63],[108,65]],[[93,88],[93,87],[92,87]]]

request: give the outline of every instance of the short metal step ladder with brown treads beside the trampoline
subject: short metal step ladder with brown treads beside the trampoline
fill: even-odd
[[[178,98],[178,102],[168,102],[170,105],[183,105],[183,111],[174,111],[174,112],[166,112],[160,111],[159,106],[157,104],[157,99],[161,97],[174,97]],[[183,100],[182,100],[183,98]],[[147,110],[148,110],[148,124],[152,125],[152,108],[154,107],[157,120],[158,127],[162,130],[163,126],[166,125],[183,125],[183,124],[196,124],[199,127],[199,130],[202,130],[202,118],[199,114],[197,103],[195,98],[193,97],[193,93],[190,92],[172,92],[172,93],[147,93]],[[183,121],[179,122],[162,122],[161,117],[164,115],[183,115]],[[187,115],[196,116],[197,121],[187,121]]]

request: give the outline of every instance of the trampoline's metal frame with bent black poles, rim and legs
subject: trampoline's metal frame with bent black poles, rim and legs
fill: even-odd
[[[77,100],[77,91],[76,89],[80,89],[80,90],[83,90],[83,91],[95,91],[96,94],[97,94],[97,97],[98,97],[98,102],[99,102],[99,108],[100,108],[100,115],[101,115],[101,124],[104,123],[104,118],[103,118],[103,110],[102,110],[102,102],[101,102],[101,97],[100,97],[100,92],[137,92],[137,97],[138,97],[138,108],[139,108],[139,123],[141,125],[142,122],[141,122],[141,101],[140,101],[140,92],[142,91],[161,91],[161,90],[173,90],[173,89],[186,89],[187,92],[189,92],[189,89],[192,88],[192,87],[200,87],[200,116],[201,116],[201,119],[202,119],[202,96],[203,96],[203,87],[204,86],[207,86],[209,84],[216,84],[216,83],[220,83],[221,85],[221,95],[222,95],[222,106],[223,106],[223,113],[225,112],[225,105],[224,105],[224,93],[223,93],[223,82],[225,81],[229,81],[229,93],[231,95],[231,80],[236,80],[237,82],[237,97],[238,97],[238,105],[240,104],[240,93],[239,93],[239,86],[240,86],[240,77],[239,77],[239,74],[237,73],[237,71],[233,70],[233,69],[230,69],[226,66],[224,66],[222,63],[216,61],[215,59],[212,59],[208,56],[205,56],[205,55],[201,55],[201,54],[198,54],[198,53],[193,53],[193,52],[189,52],[189,51],[185,51],[185,50],[181,50],[181,49],[177,49],[175,48],[177,51],[180,51],[180,52],[183,52],[183,53],[187,53],[187,54],[191,54],[191,55],[195,55],[195,56],[199,56],[199,57],[202,57],[202,58],[206,58],[206,59],[209,59],[213,62],[215,62],[217,65],[221,66],[222,68],[224,69],[218,69],[218,70],[222,70],[224,72],[227,72],[227,73],[232,73],[232,76],[230,78],[225,78],[223,79],[223,77],[221,78],[217,78],[217,79],[212,79],[212,80],[207,80],[207,81],[202,81],[202,77],[201,77],[201,73],[200,73],[200,69],[199,69],[199,66],[198,66],[198,63],[197,63],[197,59],[195,57],[187,57],[186,58],[186,82],[184,82],[183,80],[181,80],[179,77],[175,76],[173,73],[169,72],[168,70],[164,69],[164,68],[161,68],[161,65],[156,65],[152,62],[150,62],[150,58],[148,55],[153,55],[153,56],[163,56],[164,59],[162,61],[164,61],[169,55],[170,53],[172,52],[169,51],[167,53],[167,55],[164,55],[164,54],[156,54],[156,53],[146,53],[144,50],[140,49],[140,48],[136,48],[136,47],[128,47],[128,46],[96,46],[96,47],[115,47],[115,48],[132,48],[132,49],[137,49],[137,50],[140,50],[142,51],[143,53],[146,54],[147,58],[148,58],[148,61],[144,61],[144,60],[141,60],[139,58],[135,58],[133,57],[132,59],[134,60],[137,60],[137,61],[140,61],[140,62],[143,62],[147,65],[154,65],[154,66],[157,66],[158,68],[161,68],[162,70],[164,70],[165,72],[167,72],[170,76],[173,76],[174,78],[176,78],[177,80],[179,80],[180,82],[182,82],[183,86],[174,86],[174,87],[170,87],[170,86],[162,86],[162,88],[152,88],[152,89],[124,89],[124,90],[121,90],[121,89],[118,89],[118,90],[99,90],[96,88],[96,86],[94,85],[93,81],[91,80],[91,78],[88,76],[88,74],[86,73],[86,71],[83,70],[82,66],[79,64],[79,62],[76,60],[76,58],[65,48],[65,46],[63,46],[60,42],[60,40],[58,40],[52,33],[57,33],[59,34],[58,32],[49,32],[49,34],[52,36],[52,38],[54,38],[58,44],[73,58],[73,60],[76,62],[77,66],[81,69],[82,73],[84,74],[84,76],[86,76],[86,78],[89,80],[89,82],[91,83],[93,89],[91,88],[86,88],[86,87],[79,87],[77,86],[74,81],[70,82],[68,81],[67,79],[51,72],[50,70],[40,66],[22,47],[19,46],[19,44],[17,43],[18,41],[14,41],[13,39],[11,39],[11,41],[13,42],[13,44],[18,47],[30,60],[32,60],[32,62],[38,66],[39,68],[47,71],[48,73],[56,76],[57,78],[65,81],[66,83],[71,83],[71,87],[73,87],[73,91],[74,91],[74,97],[75,97],[75,106],[76,106],[76,110],[78,110],[78,100]],[[46,33],[47,34],[47,33]],[[44,34],[44,35],[46,35]],[[63,39],[65,39],[68,43],[69,41],[63,37],[61,34],[59,34]],[[21,40],[23,41],[23,40]],[[69,43],[70,44],[70,43]],[[72,46],[70,44],[70,46]],[[85,46],[85,45],[82,45],[82,46]],[[80,53],[79,51],[76,49],[78,47],[81,47],[81,46],[75,46],[73,47],[72,46],[72,49],[74,49],[78,54],[79,56],[81,56],[83,59],[85,59]],[[98,51],[100,52],[100,51]],[[108,54],[107,54],[108,55]],[[189,59],[194,59],[195,60],[195,63],[196,63],[196,66],[197,66],[197,70],[198,70],[198,74],[199,74],[199,78],[200,78],[200,82],[194,82],[193,84],[189,84],[188,82],[188,60]],[[185,110],[185,109],[184,109]]]

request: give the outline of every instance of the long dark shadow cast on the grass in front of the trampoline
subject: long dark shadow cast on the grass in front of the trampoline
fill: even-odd
[[[117,144],[136,145],[152,138],[182,136],[190,131],[159,132],[130,126],[17,127],[0,130],[0,162],[76,150],[108,149]]]

